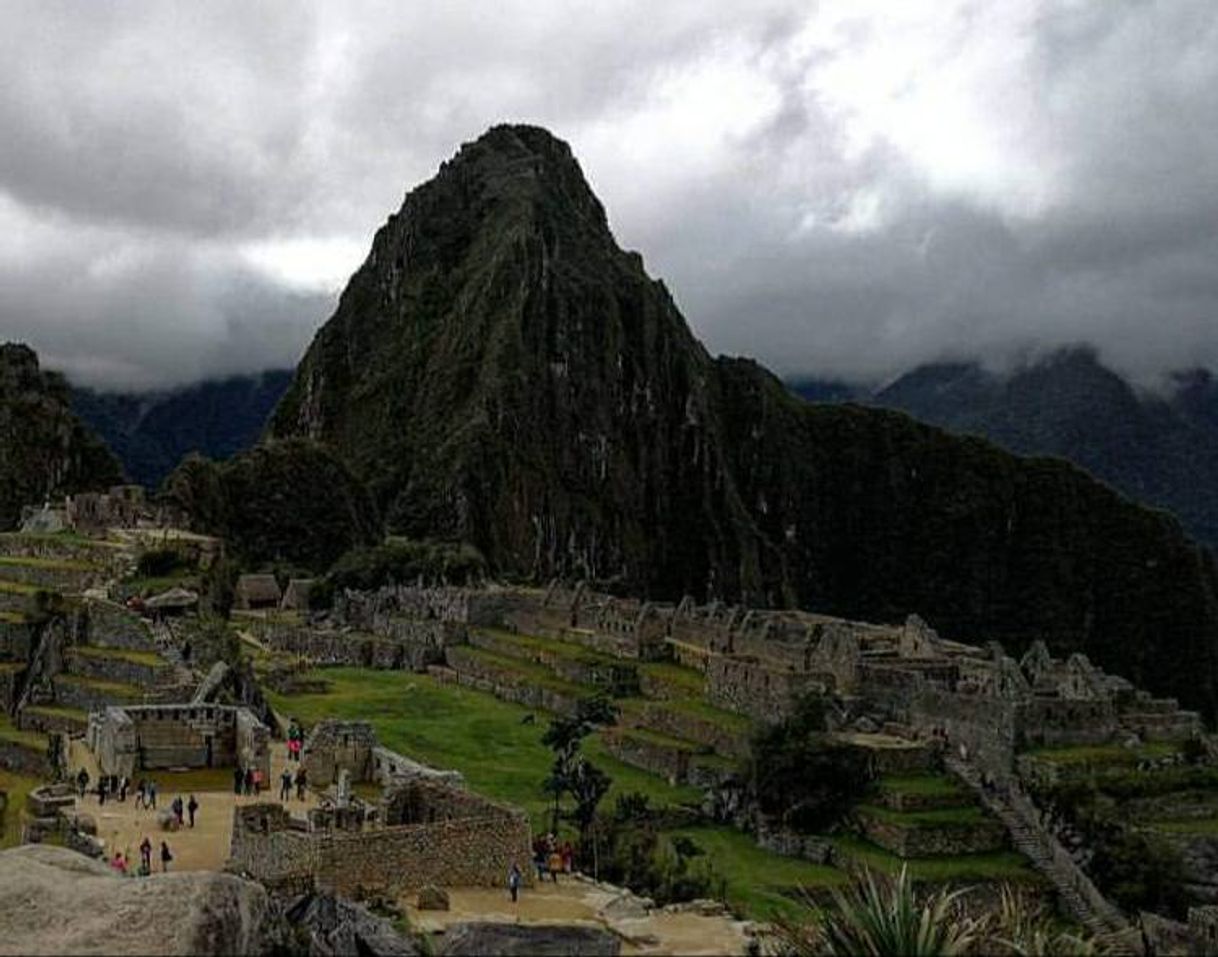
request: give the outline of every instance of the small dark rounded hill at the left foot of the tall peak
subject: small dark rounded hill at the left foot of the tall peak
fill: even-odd
[[[363,485],[306,440],[270,442],[223,463],[191,457],[166,480],[163,496],[248,565],[323,572],[345,552],[380,539]]]

